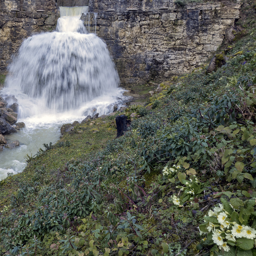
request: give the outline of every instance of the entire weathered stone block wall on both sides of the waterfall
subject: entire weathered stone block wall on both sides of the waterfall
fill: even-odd
[[[89,5],[98,12],[97,34],[105,40],[122,85],[167,80],[204,64],[239,19],[239,4],[188,4],[174,0],[5,0],[0,2],[0,70],[22,40],[55,29],[57,5]],[[11,11],[17,9],[20,12]],[[44,10],[45,12],[36,12]]]

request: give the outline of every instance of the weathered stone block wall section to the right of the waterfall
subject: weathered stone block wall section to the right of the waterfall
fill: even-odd
[[[240,4],[215,1],[177,9],[173,2],[89,0],[89,10],[98,12],[97,34],[122,84],[161,81],[204,64],[239,19]]]

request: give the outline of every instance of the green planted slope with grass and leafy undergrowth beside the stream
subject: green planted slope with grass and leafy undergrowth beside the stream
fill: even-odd
[[[209,255],[212,240],[208,244],[199,244],[201,237],[197,229],[198,224],[203,223],[207,210],[220,203],[221,193],[233,201],[256,196],[248,179],[250,176],[247,176],[255,175],[254,156],[250,153],[255,144],[247,141],[246,137],[250,133],[249,138],[255,138],[255,104],[248,108],[252,113],[252,124],[248,124],[246,115],[239,116],[238,112],[234,117],[235,123],[229,123],[229,114],[225,116],[225,103],[225,113],[220,115],[220,122],[217,121],[221,100],[212,105],[217,106],[212,121],[206,120],[207,108],[216,95],[219,99],[228,95],[242,108],[246,99],[238,95],[238,86],[248,90],[248,84],[256,85],[253,80],[256,69],[255,6],[255,1],[244,4],[245,16],[240,22],[247,35],[240,38],[242,35],[238,34],[237,41],[226,49],[230,58],[227,65],[212,75],[205,75],[205,68],[202,68],[191,75],[161,84],[163,91],[148,102],[147,108],[152,109],[135,106],[127,109],[128,116],[136,112],[143,117],[133,120],[131,132],[124,137],[110,141],[105,147],[107,140],[115,137],[111,118],[104,120],[106,123],[97,120],[92,125],[90,122],[78,125],[73,134],[66,134],[61,139],[66,145],[69,145],[66,141],[70,142],[69,147],[55,146],[43,152],[23,173],[4,180],[0,185],[0,195],[4,198],[0,203],[1,209],[4,204],[9,205],[12,193],[16,201],[12,201],[12,206],[2,213],[4,218],[0,220],[4,227],[1,230],[2,252],[9,250],[11,253],[10,248],[17,246],[20,250],[21,246],[31,255],[35,255],[37,250],[41,255],[174,256],[183,248],[179,255]],[[236,91],[232,94],[234,88]],[[241,105],[237,101],[239,97]],[[255,94],[252,99],[255,99]],[[220,125],[232,132],[238,127],[239,131],[236,136],[225,133]],[[237,126],[230,128],[230,125]],[[187,131],[186,127],[196,129],[190,131],[188,128]],[[241,127],[248,127],[246,136]],[[227,129],[225,131],[229,131]],[[180,136],[184,131],[187,135]],[[176,137],[172,139],[170,134]],[[234,143],[226,143],[231,139]],[[177,150],[184,140],[189,148],[186,149],[184,144],[184,152],[174,153],[171,140],[172,143],[177,142]],[[201,142],[198,147],[197,141]],[[221,146],[220,141],[226,146]],[[202,143],[209,143],[209,147]],[[201,150],[203,147],[205,152]],[[96,153],[101,148],[103,151]],[[196,151],[192,154],[194,148]],[[216,150],[211,151],[212,148]],[[221,150],[225,152],[230,148],[233,149],[230,154],[234,154],[236,160],[230,163],[233,169],[225,169]],[[247,151],[238,153],[243,148]],[[246,167],[242,168],[242,175],[239,171],[241,166],[235,165],[236,162]],[[168,171],[174,163],[181,165],[175,175]],[[165,166],[168,166],[168,176],[162,172]],[[236,167],[238,176],[233,174]],[[199,183],[195,182],[192,174],[196,174]],[[187,198],[190,188],[182,180],[195,187],[195,195],[190,194],[191,197]],[[183,201],[181,206],[173,204],[173,196]],[[237,208],[246,206],[238,202],[241,205]],[[252,216],[250,218],[247,225],[255,226],[255,220]],[[241,248],[234,248],[231,249],[236,252],[233,250],[230,256],[241,253]],[[225,255],[223,251],[218,253]],[[244,253],[251,255],[255,252]]]

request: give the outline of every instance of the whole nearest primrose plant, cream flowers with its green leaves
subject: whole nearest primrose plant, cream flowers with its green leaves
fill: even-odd
[[[256,255],[255,199],[244,201],[241,207],[237,207],[236,200],[231,199],[231,204],[224,198],[220,201],[222,204],[209,210],[199,225],[200,235],[204,236],[199,247],[213,245],[212,256]]]

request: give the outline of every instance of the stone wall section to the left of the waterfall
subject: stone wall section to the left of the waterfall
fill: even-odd
[[[58,8],[55,0],[5,0],[0,8],[0,71],[4,73],[25,38],[55,29]]]

